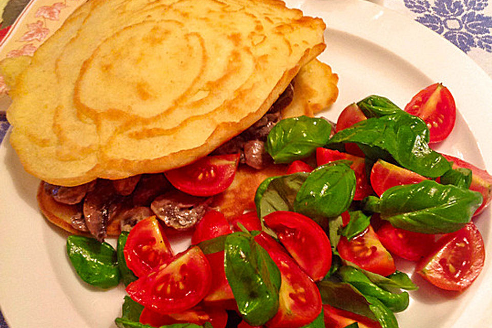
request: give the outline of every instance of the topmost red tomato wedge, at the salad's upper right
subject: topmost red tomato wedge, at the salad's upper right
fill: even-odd
[[[425,121],[429,128],[430,143],[444,140],[455,126],[455,99],[440,83],[419,91],[405,106],[405,112]]]

